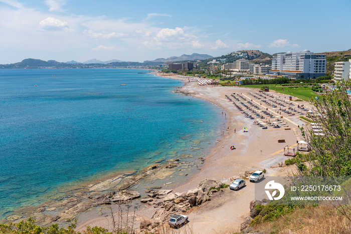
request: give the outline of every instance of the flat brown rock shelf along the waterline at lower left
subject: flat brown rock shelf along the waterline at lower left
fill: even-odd
[[[185,158],[190,156],[193,157],[192,155],[183,155]],[[48,225],[52,222],[66,222],[67,219],[74,219],[79,214],[99,206],[126,204],[141,196],[137,191],[138,186],[129,189],[138,184],[138,182],[148,180],[153,183],[155,180],[164,180],[166,177],[172,176],[173,174],[187,176],[188,173],[184,173],[184,171],[187,171],[186,169],[192,166],[199,168],[199,166],[205,162],[205,159],[199,157],[193,161],[194,162],[186,162],[179,158],[161,160],[139,172],[132,171],[118,174],[111,178],[96,181],[82,186],[81,188],[76,188],[70,195],[62,195],[57,199],[49,200],[37,206],[16,209],[11,215],[8,215],[3,222],[19,221],[32,216],[36,219],[38,224]],[[171,182],[165,183],[171,184]],[[156,188],[162,188],[162,186],[151,186],[149,189],[146,189],[145,193],[149,193],[149,196],[153,194],[151,197],[155,199],[166,195],[162,194],[162,190],[158,190],[156,193],[156,190],[154,190]],[[142,188],[140,187],[140,189]],[[141,202],[143,201],[144,200],[141,200]]]

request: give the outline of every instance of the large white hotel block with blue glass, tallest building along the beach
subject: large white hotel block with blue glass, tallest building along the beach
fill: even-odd
[[[296,80],[325,76],[325,55],[309,50],[277,54],[272,59],[269,74]]]

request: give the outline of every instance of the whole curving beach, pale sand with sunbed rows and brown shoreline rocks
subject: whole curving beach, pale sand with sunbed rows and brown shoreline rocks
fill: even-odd
[[[298,127],[305,123],[298,118],[302,111],[297,107],[304,105],[304,108],[311,109],[311,105],[296,102],[295,98],[288,101],[287,96],[275,92],[267,94],[258,89],[199,85],[198,78],[189,78],[190,82],[184,76],[154,74],[184,82],[184,86],[176,87],[173,92],[203,99],[218,107],[218,114],[223,115],[226,123],[220,127],[217,140],[211,143],[214,146],[207,155],[199,155],[201,150],[197,150],[201,147],[194,146],[193,155],[172,151],[165,159],[155,161],[141,171],[112,173],[79,187],[65,187],[67,192],[58,194],[55,199],[15,210],[8,222],[31,215],[41,225],[54,222],[67,225],[67,218],[77,217],[76,229],[79,231],[88,225],[111,230],[113,212],[115,220],[124,220],[121,226],[133,223],[137,230],[140,223],[148,222],[152,225],[146,229],[156,232],[162,220],[167,220],[170,213],[178,212],[188,215],[189,223],[175,230],[176,233],[240,231],[241,223],[250,212],[250,202],[255,199],[255,184],[249,182],[247,176],[263,169],[267,171],[266,176],[292,172],[293,166],[277,165],[289,158],[283,155],[284,146],[296,145],[301,140]],[[282,110],[288,108],[291,109],[288,113]],[[268,126],[277,119],[280,128]],[[267,129],[254,124],[257,121],[264,121],[266,125],[261,126],[268,126]],[[284,139],[284,142],[278,143],[278,139]],[[192,144],[198,145],[199,142]],[[231,150],[232,145],[235,150]],[[214,178],[220,183],[231,184],[235,178],[245,176],[246,186],[238,191],[222,188],[218,192],[198,192],[199,183],[205,179]],[[196,194],[189,195],[192,193]],[[191,196],[195,203],[189,203]]]

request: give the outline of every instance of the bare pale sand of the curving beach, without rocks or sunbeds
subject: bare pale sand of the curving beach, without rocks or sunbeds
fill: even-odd
[[[253,125],[253,120],[245,118],[226,95],[240,94],[247,100],[260,108],[267,109],[271,113],[276,113],[277,108],[273,108],[260,100],[253,98],[249,93],[258,93],[256,89],[239,88],[239,87],[222,87],[222,86],[200,86],[197,82],[188,82],[187,77],[180,77],[169,74],[157,74],[170,79],[183,80],[186,84],[178,92],[186,95],[192,95],[196,98],[207,100],[219,107],[224,112],[223,115],[228,118],[228,129],[223,132],[221,140],[216,142],[215,147],[206,155],[206,161],[201,170],[191,176],[189,180],[178,186],[172,187],[173,193],[187,192],[199,186],[199,182],[206,178],[218,178],[226,184],[230,184],[230,178],[245,173],[245,171],[255,171],[266,169],[266,176],[269,175],[286,175],[292,167],[277,167],[278,163],[284,162],[288,156],[283,155],[283,147],[286,145],[296,145],[301,139],[298,126],[304,124],[298,116],[281,113],[283,116],[282,123],[285,127],[272,128],[267,130]],[[287,100],[288,97],[278,93],[270,92],[275,98]],[[293,99],[294,100],[294,99]],[[303,104],[310,108],[309,103],[294,102],[297,105]],[[244,132],[243,128],[247,127]],[[278,143],[278,139],[285,139],[284,143]],[[236,149],[231,150],[230,146],[235,145]],[[274,168],[271,168],[273,166]],[[254,183],[247,180],[246,187],[239,191],[232,191],[229,188],[225,192],[217,193],[211,201],[200,206],[189,209],[186,214],[189,216],[189,224],[192,233],[230,233],[240,231],[240,224],[244,217],[249,214],[250,201],[254,200]],[[141,220],[149,220],[155,215],[157,209],[150,205],[138,206],[136,210],[136,223]],[[93,218],[84,223],[80,223],[78,229],[87,225],[101,225],[111,227],[111,220],[107,217]],[[187,227],[180,228],[180,233],[186,232]],[[188,229],[189,232],[189,229]]]

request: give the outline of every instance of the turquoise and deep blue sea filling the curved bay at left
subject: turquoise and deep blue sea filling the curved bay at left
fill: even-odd
[[[0,218],[59,187],[192,153],[194,141],[205,154],[225,119],[172,92],[182,85],[137,69],[0,70]]]

